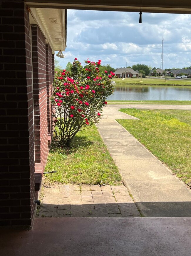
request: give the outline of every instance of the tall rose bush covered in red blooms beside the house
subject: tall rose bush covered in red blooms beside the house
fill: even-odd
[[[113,93],[111,71],[100,73],[101,61],[84,61],[75,58],[71,71],[57,73],[53,82],[52,103],[56,105],[55,133],[59,144],[69,146],[76,133],[98,123],[107,104],[105,99]]]

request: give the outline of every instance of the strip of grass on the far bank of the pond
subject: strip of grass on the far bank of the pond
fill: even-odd
[[[191,80],[187,79],[169,79],[165,80],[165,78],[125,78],[122,80],[121,78],[114,78],[113,81],[115,81],[116,86],[125,85],[125,84],[142,84],[142,85],[185,85],[185,86],[191,86]]]

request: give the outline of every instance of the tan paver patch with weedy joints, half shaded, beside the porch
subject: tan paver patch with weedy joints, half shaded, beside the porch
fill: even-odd
[[[40,217],[140,217],[125,186],[44,187]]]

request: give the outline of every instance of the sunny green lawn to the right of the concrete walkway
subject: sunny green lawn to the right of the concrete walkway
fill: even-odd
[[[121,109],[140,120],[117,120],[182,181],[191,182],[191,112]]]

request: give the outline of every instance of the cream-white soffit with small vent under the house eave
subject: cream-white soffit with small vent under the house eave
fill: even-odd
[[[64,9],[30,8],[30,23],[37,24],[54,51],[65,51],[66,24]]]

